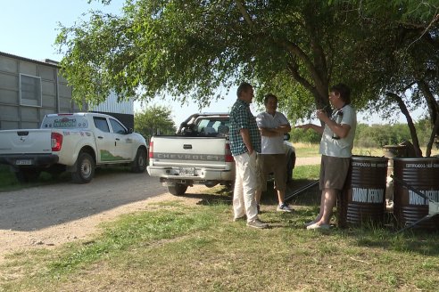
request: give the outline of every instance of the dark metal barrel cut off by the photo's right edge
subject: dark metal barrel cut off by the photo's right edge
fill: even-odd
[[[439,158],[393,158],[393,215],[401,227],[428,215],[428,200],[399,183],[402,180],[427,198],[439,202]],[[439,229],[439,215],[413,228]]]

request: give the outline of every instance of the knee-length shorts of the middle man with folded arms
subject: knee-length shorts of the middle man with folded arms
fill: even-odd
[[[259,191],[267,191],[267,177],[274,174],[275,189],[285,191],[286,189],[286,155],[285,154],[260,154],[258,166],[261,172],[261,184]]]

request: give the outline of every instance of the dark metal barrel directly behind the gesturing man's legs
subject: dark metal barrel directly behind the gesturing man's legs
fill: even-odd
[[[340,198],[340,226],[384,224],[387,160],[388,158],[352,156]]]

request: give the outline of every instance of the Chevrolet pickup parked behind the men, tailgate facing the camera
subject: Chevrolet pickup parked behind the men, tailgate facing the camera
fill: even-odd
[[[149,144],[148,174],[159,177],[176,196],[184,195],[194,184],[231,186],[235,161],[228,130],[228,113],[197,113],[186,118],[175,135],[154,135]],[[291,178],[295,162],[292,146],[286,146],[286,155]]]

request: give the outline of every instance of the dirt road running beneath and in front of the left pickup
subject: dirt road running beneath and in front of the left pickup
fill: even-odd
[[[319,161],[320,158],[297,158],[296,166],[319,164]],[[0,264],[4,263],[5,255],[21,250],[54,248],[71,241],[87,240],[98,231],[100,223],[145,210],[151,203],[183,199],[188,204],[196,204],[199,200],[172,196],[158,180],[149,178],[147,174],[145,176],[148,177],[148,183],[133,174],[113,174],[112,179],[108,176],[96,178],[87,185],[65,183],[0,193],[0,209],[3,213],[0,214]],[[128,177],[134,177],[133,181],[129,181]],[[120,199],[124,198],[127,189],[130,199]],[[195,186],[189,190],[200,193],[206,187]],[[79,191],[87,198],[74,198],[73,195]],[[50,193],[56,197],[51,197]],[[138,194],[134,199],[133,193]],[[70,200],[60,200],[54,205],[54,198],[60,197]],[[37,200],[28,204],[27,209],[14,210],[32,199]],[[8,211],[11,214],[7,214]]]

